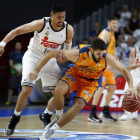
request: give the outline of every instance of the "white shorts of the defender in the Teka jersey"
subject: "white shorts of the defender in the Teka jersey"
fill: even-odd
[[[23,68],[22,68],[22,86],[33,87],[35,81],[41,78],[42,88],[45,91],[53,90],[60,78],[60,68],[57,65],[56,59],[52,58],[39,72],[38,78],[36,80],[31,80],[29,77],[30,72],[32,72],[43,56],[39,57],[37,54],[33,53],[31,50],[25,52],[23,56]]]

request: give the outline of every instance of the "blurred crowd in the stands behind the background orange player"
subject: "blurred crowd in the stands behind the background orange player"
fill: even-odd
[[[131,49],[140,46],[140,6],[129,11],[128,5],[125,4],[122,9],[117,9],[113,16],[118,18],[115,32],[115,56],[119,57],[119,61],[128,68]],[[93,38],[98,37],[103,28],[106,27],[101,27],[99,22],[95,22],[94,29],[89,33],[89,38],[83,40],[90,43]],[[117,71],[114,70],[114,72],[115,76],[122,76]]]

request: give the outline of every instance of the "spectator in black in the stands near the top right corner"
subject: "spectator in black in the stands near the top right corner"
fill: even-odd
[[[139,27],[139,14],[136,9],[132,11],[132,16],[127,24],[127,31],[130,35]]]

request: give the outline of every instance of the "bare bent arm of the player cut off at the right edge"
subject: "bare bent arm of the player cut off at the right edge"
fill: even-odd
[[[135,56],[136,56],[136,49],[132,49],[131,50],[131,53],[130,53],[130,58],[129,58],[129,69],[130,70],[133,70],[133,69],[136,69],[138,67],[140,67],[140,64],[135,64]]]

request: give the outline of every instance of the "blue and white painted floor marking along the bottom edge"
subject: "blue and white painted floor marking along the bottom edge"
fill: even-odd
[[[15,130],[12,136],[5,136],[4,129],[0,129],[0,139],[2,140],[39,140],[44,130],[36,129],[20,129]],[[50,140],[137,140],[139,137],[112,134],[112,133],[94,133],[80,131],[58,130],[52,135]]]

